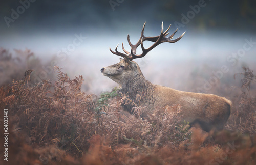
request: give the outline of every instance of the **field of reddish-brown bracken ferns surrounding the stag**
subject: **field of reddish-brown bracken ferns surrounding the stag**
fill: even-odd
[[[236,87],[222,80],[210,89],[230,99],[232,111],[223,131],[206,133],[178,124],[172,110],[182,110],[179,104],[155,109],[142,120],[137,115],[142,107],[135,115],[123,111],[129,96],[115,88],[89,93],[90,86],[83,86],[88,79],[70,78],[59,67],[49,80],[38,81],[32,75],[40,71],[40,60],[30,50],[16,51],[24,58],[5,49],[0,53],[1,69],[10,75],[1,75],[0,108],[8,109],[9,133],[8,162],[1,156],[1,164],[256,164],[254,66],[229,75],[241,79]],[[197,73],[187,87],[196,86]],[[0,142],[3,154],[6,141]]]

